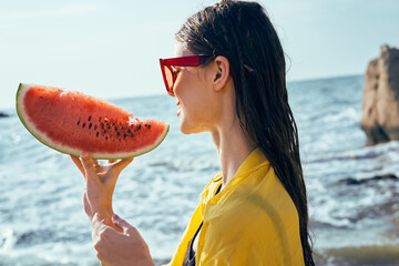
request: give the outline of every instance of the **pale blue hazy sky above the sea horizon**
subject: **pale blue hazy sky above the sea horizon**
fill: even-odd
[[[102,99],[165,93],[160,58],[209,0],[0,0],[0,111],[19,83]],[[364,74],[399,48],[398,0],[260,0],[287,54],[287,80]]]

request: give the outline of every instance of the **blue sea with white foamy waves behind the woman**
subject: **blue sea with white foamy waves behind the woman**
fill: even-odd
[[[366,146],[360,75],[288,83],[298,124],[317,265],[399,265],[399,142]],[[16,86],[17,90],[17,86]],[[208,133],[178,130],[167,95],[113,100],[171,124],[165,141],[121,174],[114,211],[137,227],[156,265],[174,254],[219,164]],[[70,157],[0,110],[0,266],[99,265]]]

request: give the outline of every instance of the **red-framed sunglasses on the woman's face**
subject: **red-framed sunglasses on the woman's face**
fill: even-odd
[[[177,79],[178,71],[175,66],[198,66],[205,63],[211,55],[192,55],[183,58],[160,59],[162,76],[165,82],[166,91],[174,96],[173,85]]]

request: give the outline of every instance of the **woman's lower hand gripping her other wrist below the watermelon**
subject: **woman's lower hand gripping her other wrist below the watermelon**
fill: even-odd
[[[98,213],[92,219],[92,238],[101,265],[154,266],[149,246],[139,231],[116,214],[112,216],[112,222],[122,233],[112,228],[111,221]]]

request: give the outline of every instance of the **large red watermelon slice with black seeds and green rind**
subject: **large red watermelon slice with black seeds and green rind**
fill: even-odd
[[[20,84],[17,113],[43,144],[66,154],[93,158],[134,157],[155,149],[168,124],[140,120],[125,110],[79,92]]]

